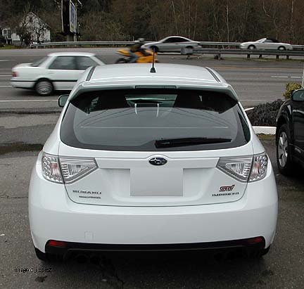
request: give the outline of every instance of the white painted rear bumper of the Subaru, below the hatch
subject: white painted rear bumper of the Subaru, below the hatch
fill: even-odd
[[[46,252],[49,240],[79,246],[160,245],[227,242],[261,236],[270,246],[277,226],[277,186],[270,166],[262,181],[248,184],[232,203],[180,207],[114,207],[72,202],[65,187],[46,181],[34,167],[29,190],[34,246]],[[206,245],[207,244],[207,245]]]

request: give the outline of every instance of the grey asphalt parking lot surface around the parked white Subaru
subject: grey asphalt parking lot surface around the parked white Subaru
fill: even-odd
[[[279,220],[274,244],[262,259],[175,252],[112,253],[100,264],[78,264],[75,259],[40,262],[30,237],[27,187],[35,158],[57,117],[0,116],[1,288],[303,288],[303,172],[289,178],[278,174],[273,138],[262,143],[277,177]]]

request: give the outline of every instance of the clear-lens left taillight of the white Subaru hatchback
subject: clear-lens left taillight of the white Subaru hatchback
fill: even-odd
[[[65,158],[43,153],[42,173],[45,179],[58,184],[72,183],[97,169],[94,158]]]

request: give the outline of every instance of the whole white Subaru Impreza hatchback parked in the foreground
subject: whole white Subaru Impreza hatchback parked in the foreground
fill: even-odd
[[[274,173],[232,86],[210,68],[150,68],[90,68],[59,99],[29,188],[40,259],[270,248]]]

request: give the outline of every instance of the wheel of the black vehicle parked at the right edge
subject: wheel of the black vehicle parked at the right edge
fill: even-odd
[[[277,166],[279,172],[286,176],[293,172],[293,161],[291,159],[291,146],[290,146],[290,134],[287,124],[283,124],[279,128],[277,139]]]

